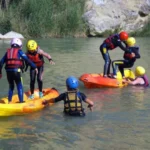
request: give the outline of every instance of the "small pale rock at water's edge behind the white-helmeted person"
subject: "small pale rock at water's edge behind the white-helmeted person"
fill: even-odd
[[[0,39],[12,39],[12,38],[24,39],[23,35],[14,31],[10,31],[5,35],[0,34]]]

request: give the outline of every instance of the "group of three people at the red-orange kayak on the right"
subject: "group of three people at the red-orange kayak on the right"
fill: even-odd
[[[136,67],[135,69],[135,80],[127,79],[124,74],[125,68],[131,68],[134,66],[136,59],[139,59],[139,47],[135,46],[136,40],[134,37],[129,37],[128,33],[125,31],[120,32],[119,34],[113,34],[106,38],[100,46],[100,52],[105,61],[103,77],[107,78],[117,78],[117,70],[119,69],[124,83],[131,85],[144,85],[148,86],[149,81],[145,74],[145,69],[141,66]],[[109,50],[114,50],[119,47],[124,51],[123,60],[114,60],[112,61],[113,75],[110,74],[110,65],[111,59],[109,56]]]

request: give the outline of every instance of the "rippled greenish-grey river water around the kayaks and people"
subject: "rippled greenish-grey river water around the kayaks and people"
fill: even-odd
[[[45,59],[44,87],[66,91],[69,75],[102,73],[104,61],[99,52],[101,38],[36,39],[48,52],[55,65]],[[142,65],[150,77],[150,38],[137,38]],[[26,41],[24,41],[25,43]],[[24,44],[25,45],[25,44]],[[9,47],[0,41],[0,57]],[[24,46],[25,51],[25,46]],[[112,60],[122,59],[123,51],[110,52]],[[133,69],[135,68],[133,67]],[[29,90],[29,71],[23,74],[24,89]],[[37,87],[37,84],[36,84]],[[63,114],[63,102],[24,116],[0,118],[0,150],[149,150],[150,89],[142,87],[79,89],[95,106],[90,112],[84,104],[86,117],[73,118]],[[5,70],[0,80],[0,97],[7,96]],[[15,93],[17,93],[15,89]]]

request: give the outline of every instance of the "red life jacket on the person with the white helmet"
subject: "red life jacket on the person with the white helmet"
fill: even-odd
[[[23,67],[23,60],[21,58],[18,58],[18,51],[19,48],[9,48],[7,50],[7,56],[6,56],[6,69],[12,68],[22,68]]]

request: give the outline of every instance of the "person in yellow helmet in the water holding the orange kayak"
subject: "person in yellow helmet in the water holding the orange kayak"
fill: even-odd
[[[141,66],[136,67],[135,75],[136,78],[134,80],[128,79],[128,80],[123,80],[123,82],[134,86],[143,86],[143,87],[149,86],[149,80],[147,75],[145,74],[145,69],[143,67]]]

